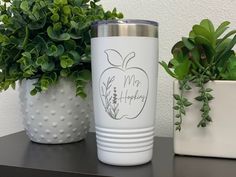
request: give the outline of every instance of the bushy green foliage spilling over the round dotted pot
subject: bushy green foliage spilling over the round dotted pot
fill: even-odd
[[[35,95],[66,77],[76,84],[76,95],[86,97],[91,23],[123,18],[98,1],[0,1],[0,91],[15,88],[16,81],[36,79]]]

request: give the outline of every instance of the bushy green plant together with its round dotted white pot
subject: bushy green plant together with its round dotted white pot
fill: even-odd
[[[88,131],[90,25],[123,17],[116,9],[105,11],[98,1],[0,4],[0,91],[21,82],[24,124],[32,141],[75,142]]]

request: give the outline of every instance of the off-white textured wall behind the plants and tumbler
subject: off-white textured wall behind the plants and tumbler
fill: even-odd
[[[236,0],[102,0],[105,8],[117,7],[126,18],[156,20],[160,25],[160,58],[168,60],[172,45],[187,35],[203,18],[219,24],[223,20],[236,27]],[[162,68],[157,90],[158,136],[172,136],[172,79]],[[22,130],[18,92],[0,93],[0,136]]]

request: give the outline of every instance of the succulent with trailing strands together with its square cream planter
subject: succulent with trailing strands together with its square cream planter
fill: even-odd
[[[161,62],[176,79],[177,154],[236,158],[236,30],[226,33],[229,24],[202,20],[174,45],[170,62]]]

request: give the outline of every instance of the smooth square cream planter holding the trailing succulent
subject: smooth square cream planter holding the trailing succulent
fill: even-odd
[[[174,152],[181,155],[236,158],[236,81],[209,82],[215,98],[211,101],[213,122],[198,128],[201,119],[201,104],[195,101],[198,89],[185,96],[193,103],[187,108],[181,132],[174,132]],[[174,93],[179,93],[178,82],[174,82]]]

